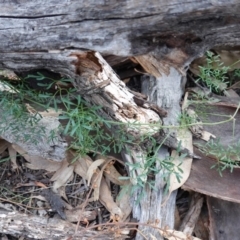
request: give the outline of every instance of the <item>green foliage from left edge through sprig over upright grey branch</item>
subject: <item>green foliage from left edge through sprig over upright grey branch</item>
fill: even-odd
[[[39,86],[38,90],[32,90],[29,87],[28,78],[35,79]],[[46,135],[44,128],[38,129],[36,127],[42,118],[39,111],[54,108],[60,113],[59,120],[62,123],[57,131],[71,138],[69,147],[74,148],[80,155],[89,152],[108,154],[111,150],[121,152],[123,148],[126,150],[127,145],[138,147],[144,141],[149,142],[143,166],[138,163],[132,165],[128,163],[132,171],[142,170],[142,174],[137,176],[137,184],[133,187],[133,191],[136,188],[144,187],[145,184],[154,188],[153,176],[159,171],[163,172],[166,181],[170,173],[175,171],[171,158],[159,159],[157,156],[161,145],[156,143],[156,140],[151,136],[151,131],[140,139],[136,139],[134,134],[127,132],[139,131],[139,128],[142,127],[139,123],[120,123],[103,119],[98,114],[98,111],[101,110],[100,106],[87,106],[75,88],[65,87],[71,83],[71,80],[63,78],[57,82],[54,79],[46,79],[41,73],[37,73],[37,75],[29,75],[21,81],[14,82],[14,84],[9,80],[2,82],[8,85],[12,92],[0,91],[1,104],[4,109],[3,122],[0,124],[1,134],[8,130],[17,139],[36,141],[37,144],[39,138]],[[51,91],[52,89],[54,91]],[[27,111],[26,102],[36,109],[35,114],[30,114]],[[9,119],[11,119],[11,124],[9,124]],[[160,124],[154,125],[152,129],[156,127],[159,128]],[[24,129],[31,134],[22,134]],[[114,135],[110,133],[111,129],[114,129]],[[56,131],[53,130],[50,132],[49,141],[54,141],[55,137]],[[146,181],[146,179],[148,180]]]

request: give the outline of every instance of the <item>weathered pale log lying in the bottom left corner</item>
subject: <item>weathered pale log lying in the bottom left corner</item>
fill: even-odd
[[[29,216],[19,212],[8,212],[0,210],[0,232],[11,234],[15,237],[22,236],[31,239],[52,239],[67,240],[74,239],[124,239],[114,235],[111,232],[90,231],[79,228],[76,235],[76,225],[57,218],[44,218],[40,216]]]

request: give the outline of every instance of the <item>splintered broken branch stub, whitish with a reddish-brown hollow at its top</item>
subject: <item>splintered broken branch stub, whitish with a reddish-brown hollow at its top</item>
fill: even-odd
[[[71,56],[77,58],[74,64],[80,76],[76,88],[85,99],[102,106],[100,111],[104,116],[123,123],[139,123],[137,128],[132,126],[127,130],[137,136],[159,130],[159,127],[148,125],[161,125],[158,113],[147,105],[136,104],[134,95],[98,52],[73,52]]]

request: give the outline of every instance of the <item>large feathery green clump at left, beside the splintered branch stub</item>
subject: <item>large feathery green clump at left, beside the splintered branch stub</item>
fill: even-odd
[[[27,84],[28,78],[35,78],[37,85],[44,90],[32,90]],[[22,141],[39,141],[44,136],[45,129],[37,127],[41,120],[41,115],[29,114],[25,103],[33,104],[34,108],[40,108],[41,111],[47,111],[54,108],[60,112],[59,120],[63,123],[60,129],[63,135],[72,138],[70,148],[75,148],[79,154],[85,155],[88,152],[100,152],[106,154],[113,149],[120,152],[126,143],[133,144],[133,137],[126,134],[127,124],[107,121],[101,118],[97,112],[99,106],[88,107],[86,102],[77,93],[75,88],[67,89],[65,86],[71,83],[69,79],[47,79],[38,73],[37,75],[29,75],[27,78],[19,81],[16,85],[12,85],[11,81],[4,81],[14,92],[0,91],[0,103],[3,108],[2,124],[0,125],[0,133],[7,130],[15,135],[16,140]],[[59,84],[60,82],[60,84]],[[54,91],[47,91],[54,88]],[[9,120],[12,119],[11,124]],[[104,126],[114,127],[115,136],[110,134]],[[26,132],[30,134],[22,134]],[[35,136],[35,137],[34,137]],[[56,137],[54,131],[50,133],[49,141],[53,141]]]

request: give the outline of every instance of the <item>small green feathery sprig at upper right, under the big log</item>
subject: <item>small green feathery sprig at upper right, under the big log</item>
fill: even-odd
[[[199,66],[200,75],[197,81],[203,82],[211,92],[221,93],[227,88],[227,72],[229,67],[223,66],[220,56],[215,56],[212,52],[206,53],[206,66]]]

